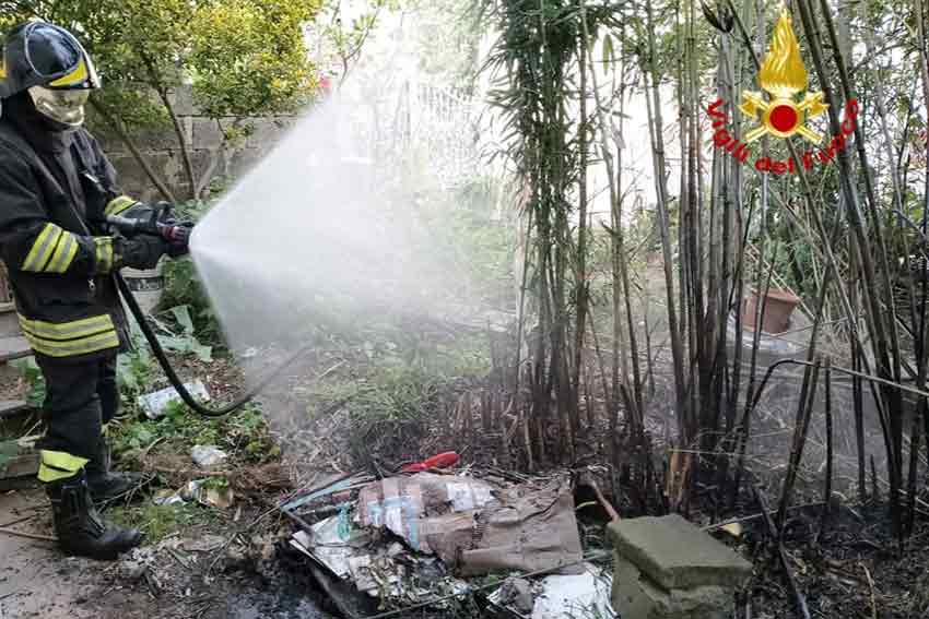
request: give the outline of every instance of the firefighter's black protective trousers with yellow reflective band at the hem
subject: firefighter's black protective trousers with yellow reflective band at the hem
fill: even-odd
[[[47,426],[38,443],[38,478],[58,481],[99,457],[103,427],[119,406],[116,358],[69,362],[39,355],[36,360],[45,377]]]

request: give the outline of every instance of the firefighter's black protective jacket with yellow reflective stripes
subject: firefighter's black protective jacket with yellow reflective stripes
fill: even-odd
[[[51,131],[22,96],[3,102],[0,255],[36,355],[82,361],[128,345],[113,275],[119,255],[101,222],[148,207],[120,195],[115,180],[90,133]]]

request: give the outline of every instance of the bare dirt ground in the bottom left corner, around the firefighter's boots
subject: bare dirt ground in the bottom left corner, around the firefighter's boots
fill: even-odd
[[[27,520],[22,520],[27,519]],[[19,522],[17,522],[19,521]],[[0,525],[51,535],[42,490],[0,495]],[[222,531],[178,532],[118,561],[64,557],[45,540],[0,534],[0,619],[330,619],[286,575],[230,566]]]

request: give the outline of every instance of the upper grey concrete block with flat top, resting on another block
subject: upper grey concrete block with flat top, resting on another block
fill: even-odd
[[[610,523],[613,548],[665,590],[738,587],[752,564],[678,514]]]

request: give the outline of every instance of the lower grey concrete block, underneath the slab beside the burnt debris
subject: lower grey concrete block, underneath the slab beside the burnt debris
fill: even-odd
[[[721,586],[665,590],[614,555],[613,609],[623,619],[729,619],[732,591]]]

